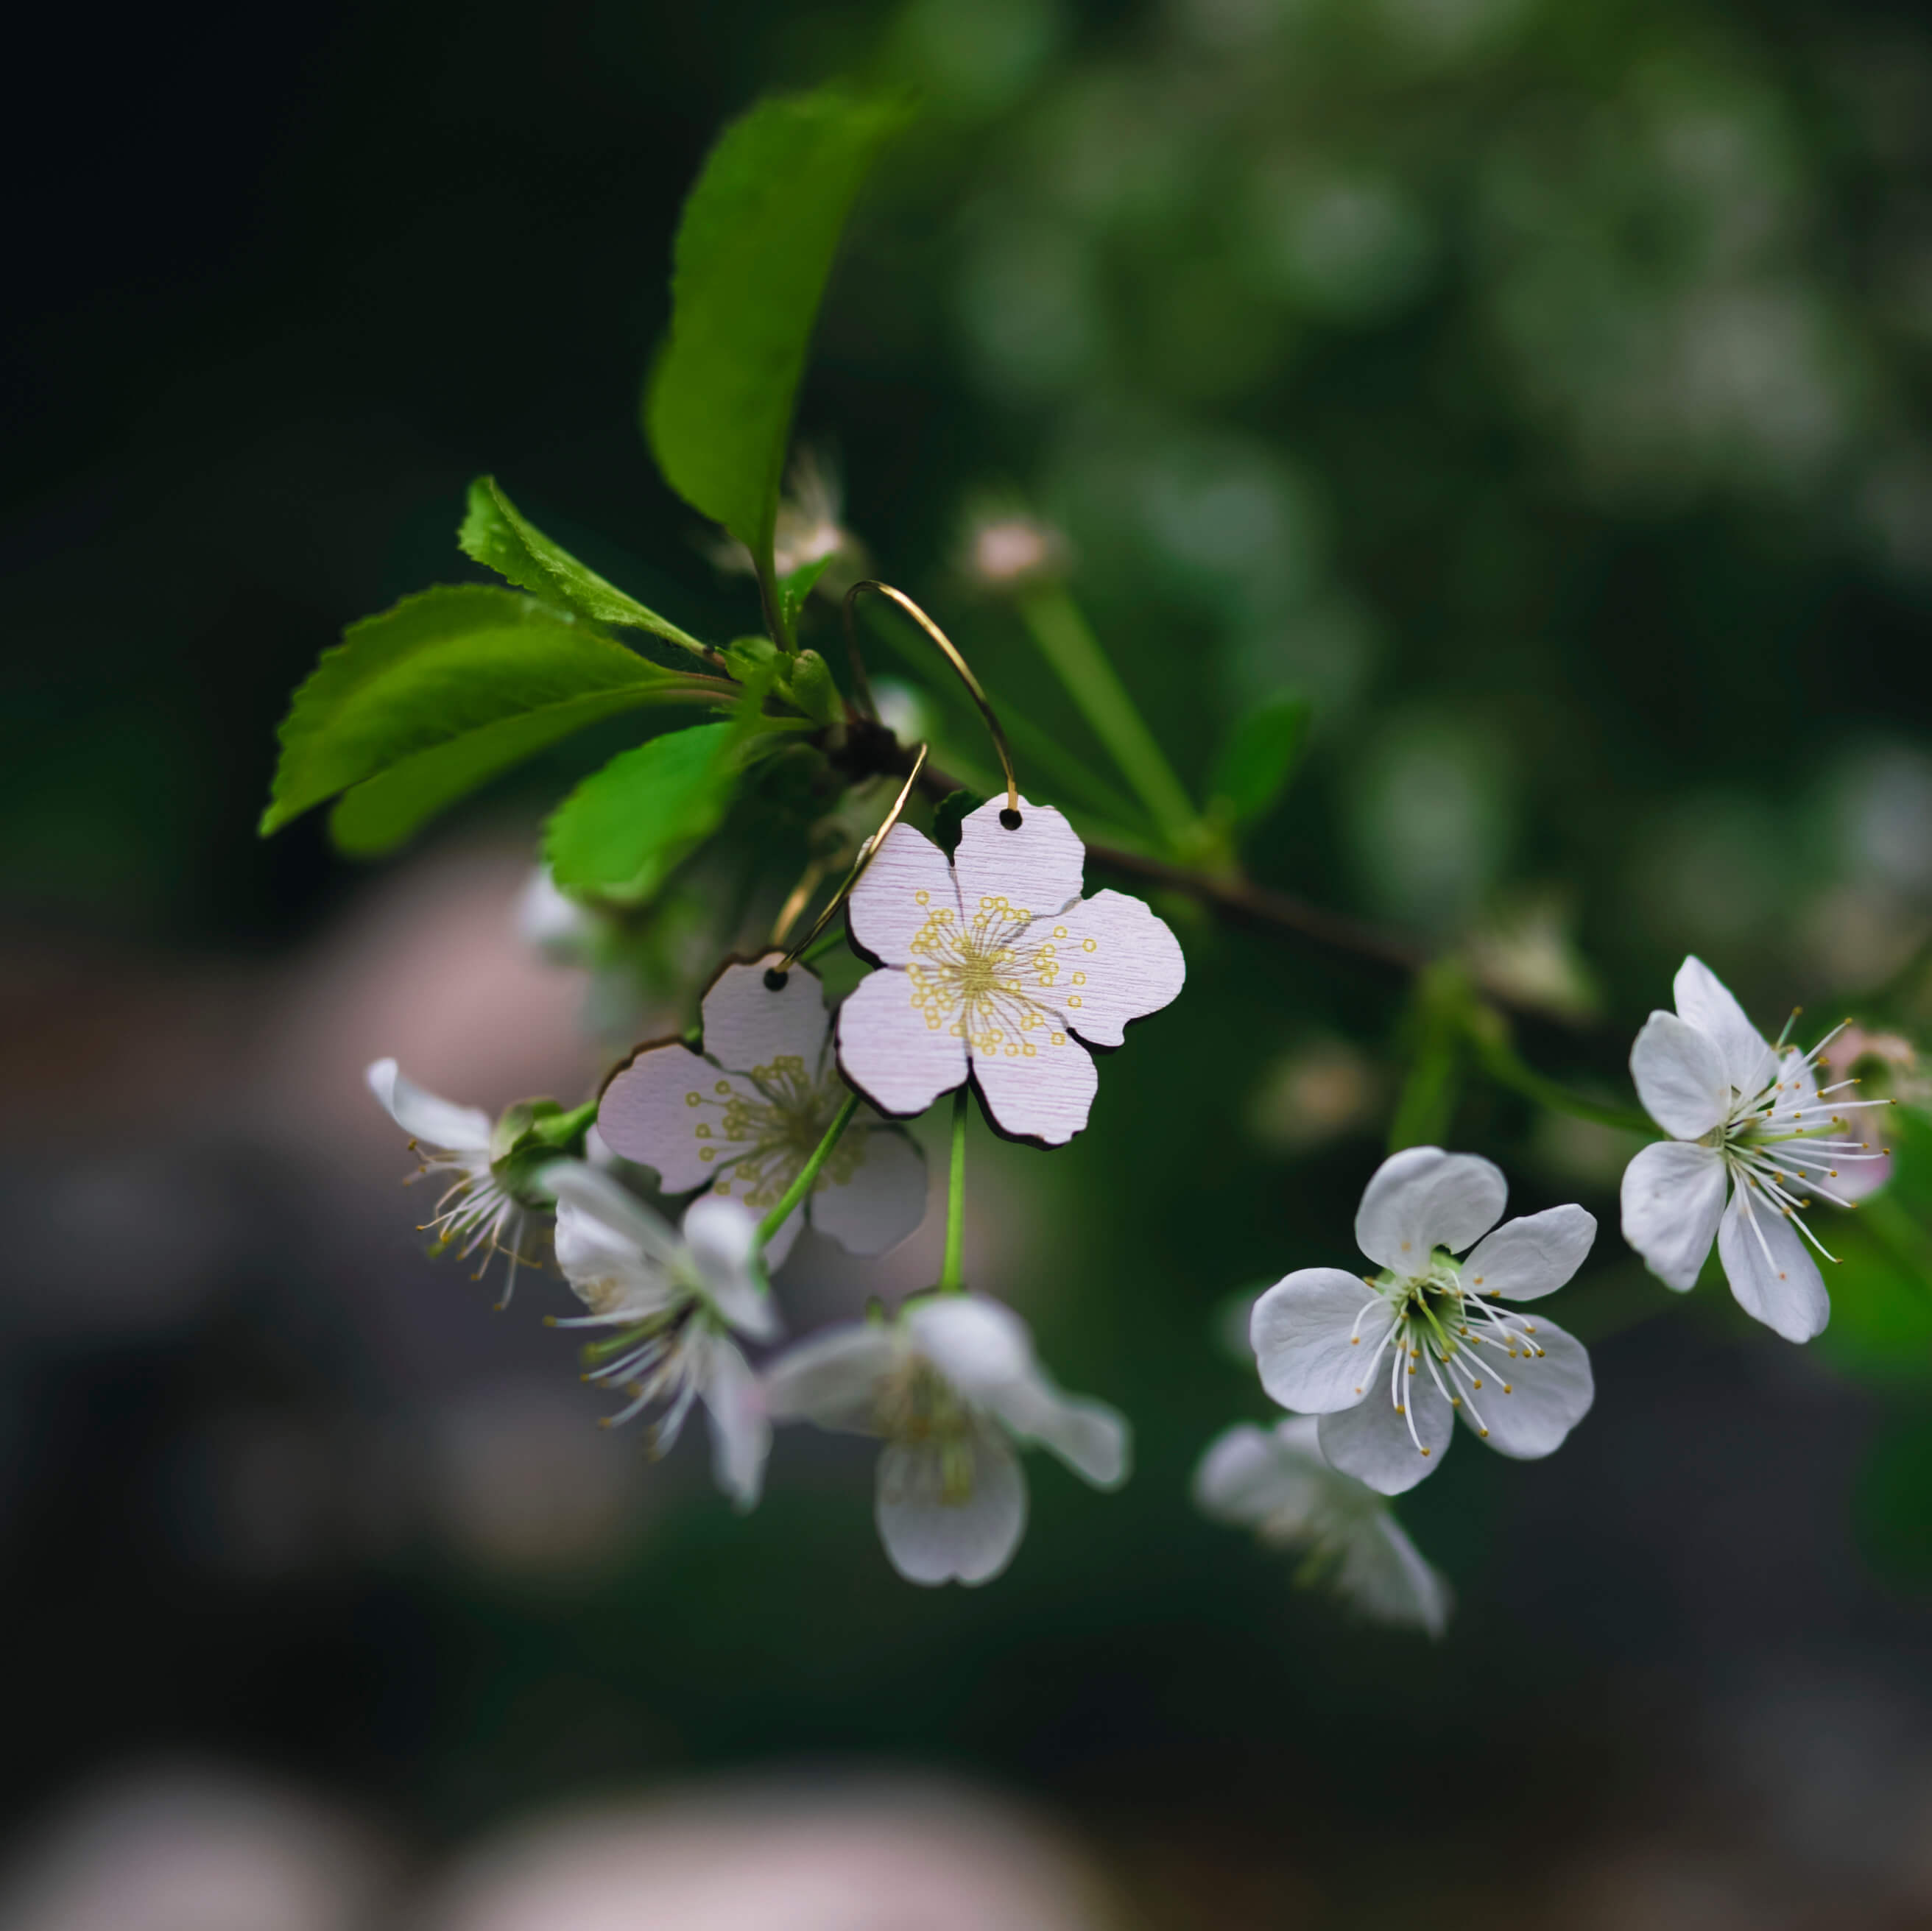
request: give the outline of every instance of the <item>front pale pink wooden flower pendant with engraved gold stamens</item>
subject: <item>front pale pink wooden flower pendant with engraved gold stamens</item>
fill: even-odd
[[[1088,1122],[1090,1047],[1180,991],[1180,944],[1138,898],[1080,896],[1086,848],[1051,805],[1003,798],[945,854],[896,825],[852,892],[854,942],[881,966],[838,1008],[838,1064],[910,1118],[972,1077],[993,1122],[1057,1147]]]

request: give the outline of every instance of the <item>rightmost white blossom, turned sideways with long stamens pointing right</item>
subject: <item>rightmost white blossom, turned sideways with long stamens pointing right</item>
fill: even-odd
[[[1810,1340],[1832,1298],[1803,1209],[1812,1195],[1849,1207],[1870,1191],[1857,1176],[1884,1151],[1847,1116],[1886,1101],[1845,1097],[1855,1079],[1818,1085],[1816,1068],[1830,1066],[1820,1054],[1843,1027],[1810,1052],[1783,1037],[1774,1047],[1696,958],[1671,991],[1677,1010],[1652,1012],[1631,1047],[1636,1097],[1671,1137],[1625,1168],[1623,1238],[1679,1294],[1696,1286],[1716,1240],[1739,1307],[1785,1340]]]

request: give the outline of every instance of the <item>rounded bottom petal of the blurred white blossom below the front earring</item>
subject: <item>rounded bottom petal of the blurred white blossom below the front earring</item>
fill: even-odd
[[[1026,1533],[1026,1475],[1007,1437],[978,1423],[954,1456],[970,1471],[962,1491],[949,1491],[937,1441],[887,1442],[879,1454],[879,1541],[906,1581],[991,1581]]]

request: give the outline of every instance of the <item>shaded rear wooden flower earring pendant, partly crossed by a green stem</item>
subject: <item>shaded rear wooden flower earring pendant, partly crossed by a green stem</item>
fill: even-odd
[[[850,1097],[831,1052],[819,977],[782,954],[726,966],[703,998],[703,1050],[641,1047],[605,1087],[597,1126],[614,1153],[657,1170],[667,1193],[709,1186],[767,1215]],[[779,981],[779,983],[773,983]],[[862,1110],[811,1193],[765,1245],[777,1267],[806,1220],[848,1253],[885,1253],[925,1218],[925,1157]]]

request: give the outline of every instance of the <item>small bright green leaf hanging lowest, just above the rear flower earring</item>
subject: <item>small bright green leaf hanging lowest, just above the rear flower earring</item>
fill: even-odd
[[[724,821],[738,724],[697,724],[620,751],[551,815],[543,852],[564,890],[643,904]]]

